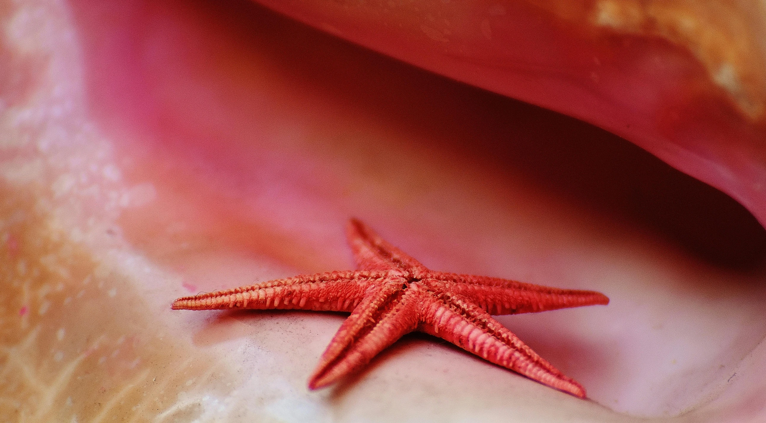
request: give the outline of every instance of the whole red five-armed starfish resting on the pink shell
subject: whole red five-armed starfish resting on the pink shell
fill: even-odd
[[[309,389],[357,371],[405,333],[419,330],[529,379],[585,397],[578,382],[561,374],[489,313],[607,304],[609,298],[604,294],[430,271],[357,220],[349,222],[347,235],[358,271],[302,275],[201,293],[175,300],[173,309],[350,312],[322,354]]]

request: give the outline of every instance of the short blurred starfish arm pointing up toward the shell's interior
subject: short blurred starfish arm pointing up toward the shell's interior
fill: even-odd
[[[351,219],[346,226],[346,238],[354,254],[357,268],[365,270],[399,269],[420,270],[426,267],[404,251],[388,244],[375,231],[361,221]]]

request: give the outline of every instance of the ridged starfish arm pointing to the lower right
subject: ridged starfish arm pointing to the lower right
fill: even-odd
[[[423,323],[418,330],[445,339],[529,379],[585,398],[585,390],[578,382],[563,375],[470,300],[449,294],[431,298],[433,300],[421,305]]]

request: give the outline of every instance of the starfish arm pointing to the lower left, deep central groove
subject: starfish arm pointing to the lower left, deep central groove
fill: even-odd
[[[309,378],[309,389],[318,389],[365,366],[383,349],[417,327],[417,295],[404,293],[405,280],[373,291],[332,338],[319,365]]]

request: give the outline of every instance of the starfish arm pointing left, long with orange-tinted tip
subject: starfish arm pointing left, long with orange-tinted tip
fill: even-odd
[[[335,271],[269,280],[178,298],[173,310],[300,309],[320,311],[354,310],[372,284],[388,277],[386,271]]]

